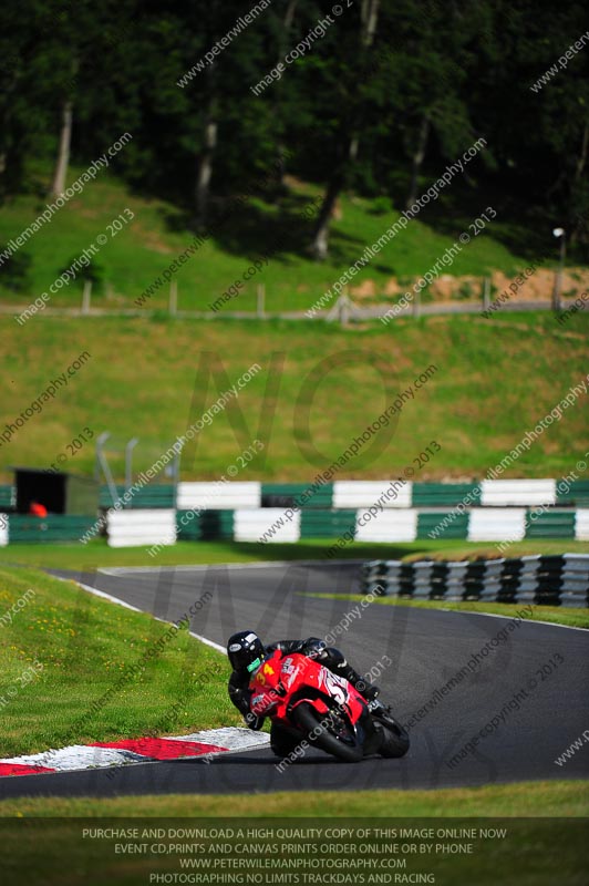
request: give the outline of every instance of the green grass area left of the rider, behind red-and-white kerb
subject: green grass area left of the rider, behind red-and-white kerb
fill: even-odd
[[[186,626],[8,567],[0,615],[0,756],[241,724],[225,657]]]

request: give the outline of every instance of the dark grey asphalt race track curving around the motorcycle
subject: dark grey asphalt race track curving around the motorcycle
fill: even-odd
[[[334,645],[359,671],[381,668],[375,681],[402,722],[426,710],[410,730],[411,749],[402,760],[344,764],[310,751],[279,772],[270,750],[250,751],[221,754],[208,764],[194,759],[123,766],[112,779],[104,770],[10,776],[0,780],[0,797],[434,789],[589,776],[589,744],[565,765],[554,762],[589,728],[589,631],[520,622],[497,641],[507,619],[379,604],[351,616],[355,602],[312,596],[356,591],[358,564],[350,563],[56,574],[169,621],[205,594],[192,630],[221,646],[246,628],[268,642],[341,630]],[[540,612],[537,607],[536,618]],[[480,663],[434,696],[475,653]],[[545,666],[560,658],[549,673]],[[494,717],[498,728],[448,766]]]

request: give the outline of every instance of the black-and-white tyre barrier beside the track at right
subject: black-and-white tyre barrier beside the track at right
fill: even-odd
[[[362,594],[415,600],[492,600],[589,606],[589,554],[492,560],[371,560],[360,573]]]

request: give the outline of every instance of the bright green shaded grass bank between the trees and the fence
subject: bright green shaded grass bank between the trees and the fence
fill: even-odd
[[[82,168],[71,168],[69,183],[73,183],[82,172]],[[41,169],[37,194],[43,195],[46,186],[45,171]],[[268,310],[310,308],[360,257],[364,247],[378,240],[397,217],[392,208],[381,212],[378,203],[353,195],[343,196],[333,223],[331,257],[324,264],[317,264],[306,254],[306,246],[311,235],[313,213],[317,212],[313,200],[319,194],[317,187],[292,179],[288,194],[277,203],[252,198],[241,209],[232,212],[215,230],[215,236],[179,268],[176,275],[179,307],[207,309],[227,287],[242,277],[251,258],[272,251],[269,264],[245,284],[229,307],[252,310],[257,285],[264,282]],[[508,218],[508,210],[502,212],[496,194],[472,193],[457,183],[453,189],[443,193],[436,204],[424,207],[409,228],[360,271],[354,285],[371,280],[378,292],[384,292],[386,282],[394,276],[402,286],[407,286],[433,266],[489,204],[498,210],[496,219],[463,249],[447,272],[478,277],[495,268],[506,274],[515,272],[516,268],[528,262],[519,251],[512,251],[504,244],[525,244],[518,248],[535,250],[538,255],[539,247],[533,240],[537,235],[515,225],[513,218]],[[44,197],[29,194],[3,206],[0,244],[17,237],[45,205]],[[306,207],[309,207],[307,218],[303,217]],[[134,214],[134,219],[111,237],[107,225],[125,209]],[[102,291],[95,291],[93,305],[111,308],[134,307],[134,299],[163,274],[194,237],[189,219],[177,207],[130,193],[116,178],[103,172],[21,247],[19,256],[31,261],[29,285],[22,295],[16,297],[2,285],[0,275],[0,299],[23,305],[34,300],[48,291],[71,261],[101,234],[108,237],[96,256],[104,272],[104,285]],[[279,243],[285,246],[276,250],[275,245]],[[546,249],[542,254],[547,251],[550,254]],[[53,295],[50,305],[78,307],[80,300],[81,285],[74,281]],[[167,307],[168,285],[164,285],[147,303],[149,308]]]

